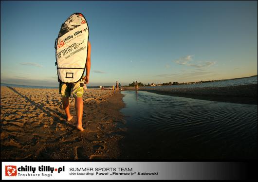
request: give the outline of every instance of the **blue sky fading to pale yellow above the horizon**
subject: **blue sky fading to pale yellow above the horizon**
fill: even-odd
[[[257,1],[2,1],[0,82],[56,86],[55,38],[82,13],[88,86],[257,75]]]

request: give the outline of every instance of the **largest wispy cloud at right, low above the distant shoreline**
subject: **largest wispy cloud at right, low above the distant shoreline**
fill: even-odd
[[[195,68],[204,68],[204,67],[209,67],[211,65],[214,65],[216,62],[210,62],[210,61],[198,61],[198,64],[196,64],[193,60],[194,55],[186,55],[184,57],[181,57],[174,62],[177,64],[185,65],[185,66],[191,66]]]

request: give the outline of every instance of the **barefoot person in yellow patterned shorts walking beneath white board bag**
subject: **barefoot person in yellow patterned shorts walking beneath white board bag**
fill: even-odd
[[[63,107],[67,116],[67,121],[71,121],[73,116],[70,114],[69,110],[69,97],[73,93],[75,98],[75,110],[77,116],[77,129],[83,131],[82,127],[82,113],[83,113],[83,86],[84,83],[89,83],[90,81],[90,70],[91,70],[91,43],[88,42],[88,55],[86,61],[86,75],[76,83],[62,83],[59,84],[59,93],[62,95]]]

